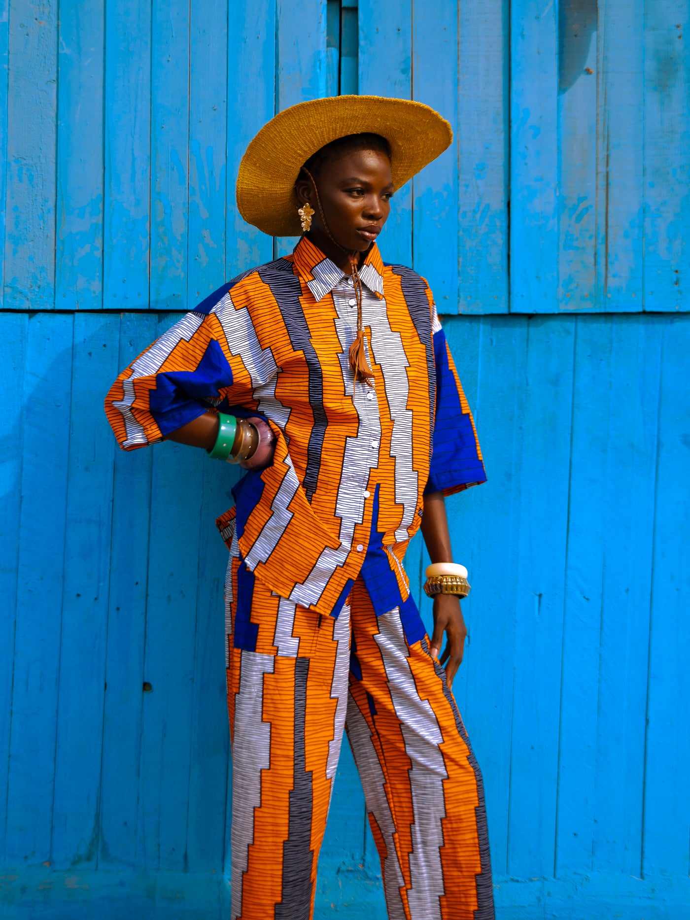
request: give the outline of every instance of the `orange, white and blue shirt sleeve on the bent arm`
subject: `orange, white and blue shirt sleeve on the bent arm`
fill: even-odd
[[[235,310],[227,292],[227,285],[217,292],[216,307],[206,301],[182,316],[110,387],[106,415],[123,450],[162,441],[209,408],[257,405],[243,349],[231,353],[225,327],[233,323],[235,339],[256,333],[247,310],[228,316]]]

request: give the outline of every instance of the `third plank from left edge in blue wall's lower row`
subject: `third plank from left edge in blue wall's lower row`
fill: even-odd
[[[117,314],[75,316],[53,868],[96,868],[98,857],[114,440],[94,394],[118,373],[119,328]]]

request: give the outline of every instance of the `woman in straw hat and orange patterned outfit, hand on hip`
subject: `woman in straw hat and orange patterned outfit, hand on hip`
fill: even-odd
[[[450,692],[465,572],[444,507],[486,477],[431,291],[375,243],[394,190],[451,140],[400,99],[276,116],[247,148],[237,204],[272,236],[302,227],[293,255],[224,284],[107,399],[123,448],[167,438],[247,469],[218,519],[234,918],[312,916],[344,727],[388,915],[493,917],[481,776]],[[429,592],[443,591],[431,643],[402,566],[420,527]]]

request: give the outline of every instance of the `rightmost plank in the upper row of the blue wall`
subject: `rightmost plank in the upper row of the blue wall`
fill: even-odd
[[[645,310],[690,309],[688,29],[690,9],[683,0],[646,0]]]

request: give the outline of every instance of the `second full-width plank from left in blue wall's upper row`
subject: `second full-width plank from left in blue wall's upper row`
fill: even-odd
[[[55,305],[103,305],[103,4],[60,7]]]

